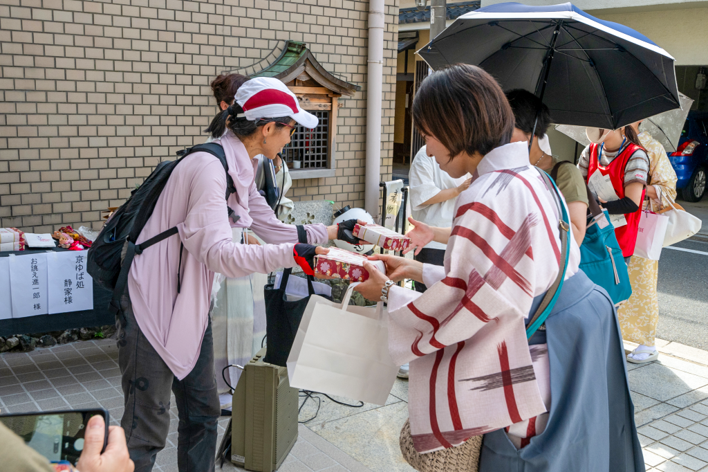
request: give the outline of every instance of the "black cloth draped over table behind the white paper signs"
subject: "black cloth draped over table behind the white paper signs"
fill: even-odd
[[[43,247],[26,251],[2,251],[0,257],[10,254],[23,256],[47,251],[63,252],[63,247]],[[34,332],[62,331],[81,327],[113,325],[115,317],[108,312],[108,304],[113,292],[93,283],[93,310],[68,311],[54,315],[37,315],[25,318],[0,320],[0,336],[27,335]]]

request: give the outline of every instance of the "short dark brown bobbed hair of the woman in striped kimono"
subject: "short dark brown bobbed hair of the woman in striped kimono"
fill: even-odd
[[[496,80],[483,69],[455,64],[430,74],[413,99],[413,122],[450,151],[483,156],[506,145],[514,115]]]

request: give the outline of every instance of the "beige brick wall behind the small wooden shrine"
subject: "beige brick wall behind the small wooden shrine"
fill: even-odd
[[[387,0],[382,179],[391,174],[399,0]],[[100,227],[161,159],[202,142],[208,83],[285,40],[362,86],[338,111],[336,176],[293,200],[363,206],[367,1],[0,0],[0,227]]]

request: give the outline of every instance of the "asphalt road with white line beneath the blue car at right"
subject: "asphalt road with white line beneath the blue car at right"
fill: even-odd
[[[657,337],[708,349],[708,242],[685,240],[674,247],[703,254],[661,251]]]

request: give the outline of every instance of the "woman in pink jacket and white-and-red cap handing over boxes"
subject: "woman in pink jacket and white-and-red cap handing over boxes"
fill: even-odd
[[[234,193],[224,198],[227,175],[219,159],[206,152],[189,154],[172,172],[136,241],[178,228],[178,237],[135,257],[118,313],[125,395],[121,425],[136,471],[152,470],[165,446],[171,393],[179,415],[179,470],[214,470],[220,414],[208,316],[214,273],[241,277],[299,264],[312,274],[314,255],[328,250],[312,245],[338,233],[349,239],[343,232],[355,220],[339,227],[281,223],[253,183],[251,159],[275,157],[297,124],[314,128],[317,118],[299,108],[285,84],[266,77],[245,81],[234,104],[209,128],[224,147]],[[242,245],[232,240],[232,227],[250,227],[270,244]],[[305,238],[309,244],[297,244]]]

